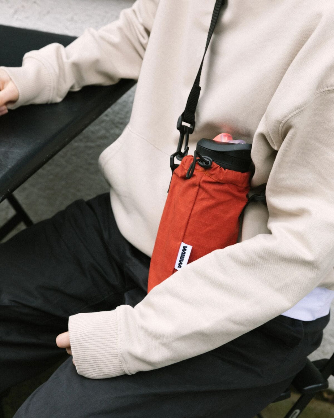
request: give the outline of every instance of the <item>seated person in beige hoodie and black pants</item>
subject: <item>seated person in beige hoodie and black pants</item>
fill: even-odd
[[[251,193],[267,184],[267,207],[249,204],[240,242],[147,294],[176,122],[213,5],[137,0],[68,47],[1,68],[2,113],[138,79],[129,125],[99,159],[110,196],[76,201],[1,244],[1,389],[54,362],[58,347],[75,363],[16,417],[251,418],[321,342],[334,289],[330,0],[230,0],[221,11],[190,152],[221,132],[252,143]]]

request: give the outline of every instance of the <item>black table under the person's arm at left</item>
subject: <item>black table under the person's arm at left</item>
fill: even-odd
[[[66,46],[74,39],[0,25],[0,65],[20,66],[25,52],[53,42]],[[0,239],[19,217],[29,223],[12,192],[134,84],[121,80],[114,86],[87,86],[68,93],[61,103],[23,106],[0,117],[0,202],[8,198],[18,212],[16,220],[0,228]]]

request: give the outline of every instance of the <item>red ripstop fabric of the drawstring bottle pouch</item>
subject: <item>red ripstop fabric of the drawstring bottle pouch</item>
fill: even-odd
[[[180,245],[192,246],[188,264],[238,240],[239,217],[247,203],[250,173],[224,169],[216,163],[186,178],[192,155],[172,175],[149,268],[148,289],[175,273]]]

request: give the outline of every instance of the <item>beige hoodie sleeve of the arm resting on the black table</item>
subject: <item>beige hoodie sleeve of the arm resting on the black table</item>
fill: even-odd
[[[87,29],[66,48],[52,43],[23,57],[22,67],[1,67],[19,91],[10,108],[60,102],[69,90],[88,84],[137,79],[152,30],[158,0],[137,0],[119,20],[96,31]]]

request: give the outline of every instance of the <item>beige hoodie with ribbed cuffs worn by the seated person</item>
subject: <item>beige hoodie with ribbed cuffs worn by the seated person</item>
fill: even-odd
[[[214,3],[138,0],[100,31],[6,69],[20,92],[14,107],[139,77],[129,125],[99,163],[119,229],[147,255]],[[268,211],[249,205],[242,242],[182,268],[135,308],[71,316],[84,376],[178,362],[283,313],[316,286],[334,289],[334,3],[228,3],[205,59],[190,152],[223,131],[252,142],[252,187],[268,183]]]

